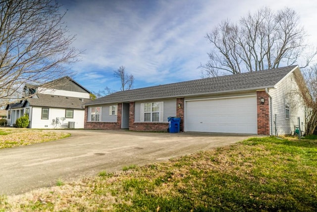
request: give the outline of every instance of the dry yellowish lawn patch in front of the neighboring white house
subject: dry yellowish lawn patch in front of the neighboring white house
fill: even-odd
[[[31,129],[0,129],[0,149],[54,141],[69,136],[70,134],[63,132]]]

